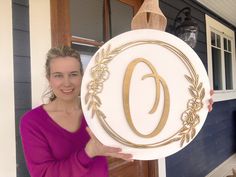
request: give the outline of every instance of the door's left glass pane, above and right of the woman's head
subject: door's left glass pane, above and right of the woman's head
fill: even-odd
[[[70,0],[71,34],[103,40],[103,0]]]

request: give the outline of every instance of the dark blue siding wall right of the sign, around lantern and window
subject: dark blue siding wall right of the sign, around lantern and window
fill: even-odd
[[[196,53],[207,68],[205,14],[236,31],[236,28],[211,13],[196,1],[160,0],[160,8],[168,19],[167,31],[172,31],[175,16],[184,7],[190,7],[200,31]],[[166,158],[167,177],[204,177],[236,151],[236,100],[217,102],[208,114],[197,137],[183,150]]]

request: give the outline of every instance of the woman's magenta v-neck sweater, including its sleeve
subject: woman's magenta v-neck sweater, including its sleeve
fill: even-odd
[[[31,177],[108,177],[105,157],[90,158],[84,148],[90,139],[84,117],[71,133],[39,106],[20,122],[24,155]]]

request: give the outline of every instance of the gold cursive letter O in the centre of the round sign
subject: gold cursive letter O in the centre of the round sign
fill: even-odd
[[[163,91],[164,91],[164,109],[163,109],[163,112],[162,112],[162,115],[161,115],[160,122],[158,123],[156,128],[151,133],[146,134],[146,135],[140,133],[135,128],[134,123],[133,123],[132,118],[131,118],[130,102],[129,102],[130,81],[131,81],[131,78],[132,78],[132,74],[133,74],[133,71],[135,69],[135,66],[137,64],[141,63],[141,62],[145,63],[149,67],[149,69],[152,71],[151,74],[144,75],[142,77],[142,80],[146,79],[146,78],[149,78],[149,77],[152,77],[154,79],[155,85],[156,85],[155,102],[154,102],[154,105],[153,105],[152,109],[149,111],[149,114],[153,114],[156,111],[157,107],[158,107],[159,100],[160,100],[160,85],[162,85]],[[152,137],[158,135],[161,132],[161,130],[164,128],[165,124],[166,124],[168,114],[169,114],[169,109],[170,109],[170,96],[169,96],[169,90],[168,90],[167,84],[166,84],[165,80],[160,75],[158,75],[155,67],[148,60],[146,60],[144,58],[134,59],[131,63],[129,63],[129,65],[126,69],[125,77],[124,77],[124,81],[123,81],[123,107],[124,107],[126,120],[129,124],[130,128],[132,129],[132,131],[136,135],[138,135],[140,137],[152,138]]]

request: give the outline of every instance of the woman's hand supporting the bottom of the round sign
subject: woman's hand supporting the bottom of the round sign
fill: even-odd
[[[88,127],[86,127],[86,130],[90,136],[90,140],[85,147],[85,151],[89,157],[110,156],[126,161],[133,161],[131,154],[122,153],[120,148],[103,145]]]

